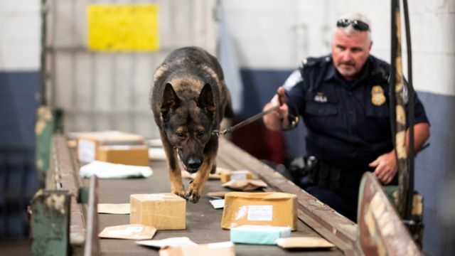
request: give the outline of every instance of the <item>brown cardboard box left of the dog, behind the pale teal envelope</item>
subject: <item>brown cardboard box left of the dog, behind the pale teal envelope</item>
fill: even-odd
[[[149,166],[149,147],[146,145],[98,146],[95,159],[114,164]]]

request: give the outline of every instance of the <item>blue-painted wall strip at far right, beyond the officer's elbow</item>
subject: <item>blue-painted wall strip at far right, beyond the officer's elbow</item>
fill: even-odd
[[[455,96],[417,92],[431,123],[429,148],[417,155],[415,187],[424,196],[424,250],[432,255],[455,252]],[[454,190],[451,190],[454,191]],[[441,215],[451,211],[451,220]]]

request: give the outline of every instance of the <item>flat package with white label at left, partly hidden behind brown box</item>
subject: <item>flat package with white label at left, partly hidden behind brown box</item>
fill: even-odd
[[[82,132],[78,133],[76,136],[77,157],[80,161],[85,163],[97,160],[98,146],[145,145],[144,137],[126,132]]]

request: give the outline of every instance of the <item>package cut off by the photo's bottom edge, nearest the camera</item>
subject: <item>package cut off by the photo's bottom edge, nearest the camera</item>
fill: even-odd
[[[164,247],[159,250],[160,256],[235,256],[235,245],[232,242],[212,242],[205,245],[182,247]]]

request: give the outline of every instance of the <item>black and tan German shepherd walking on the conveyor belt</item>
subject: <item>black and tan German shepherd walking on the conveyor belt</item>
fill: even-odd
[[[171,192],[199,201],[208,174],[216,169],[218,136],[223,117],[232,117],[230,94],[218,60],[196,47],[179,48],[156,69],[151,110],[167,156]],[[183,169],[196,173],[185,191]]]

